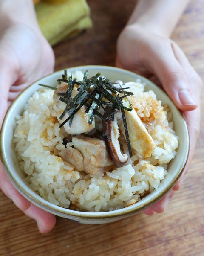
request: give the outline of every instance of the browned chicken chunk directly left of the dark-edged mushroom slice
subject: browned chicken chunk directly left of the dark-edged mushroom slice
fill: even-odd
[[[88,137],[73,137],[74,148],[83,155],[84,170],[89,174],[108,172],[113,162],[108,155],[105,141]]]

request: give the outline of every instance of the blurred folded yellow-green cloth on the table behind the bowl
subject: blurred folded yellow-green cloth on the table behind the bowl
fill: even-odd
[[[86,0],[34,0],[42,33],[53,46],[92,26]]]

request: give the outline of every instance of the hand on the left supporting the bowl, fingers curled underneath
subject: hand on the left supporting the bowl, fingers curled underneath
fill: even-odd
[[[27,23],[0,28],[0,128],[7,106],[29,84],[53,71],[54,54],[40,30]],[[0,188],[27,216],[37,221],[41,233],[50,231],[54,215],[27,201],[11,184],[0,163]]]

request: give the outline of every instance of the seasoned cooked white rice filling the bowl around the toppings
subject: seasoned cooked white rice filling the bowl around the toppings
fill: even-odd
[[[82,73],[75,76],[80,80]],[[130,206],[157,189],[167,174],[167,164],[176,155],[178,137],[169,107],[163,107],[153,91],[144,92],[144,84],[137,85],[133,107],[157,147],[148,158],[133,151],[129,164],[100,175],[78,172],[59,157],[65,148],[64,129],[59,128],[52,108],[54,91],[36,91],[23,115],[17,116],[14,132],[17,160],[31,189],[52,204],[90,212]]]

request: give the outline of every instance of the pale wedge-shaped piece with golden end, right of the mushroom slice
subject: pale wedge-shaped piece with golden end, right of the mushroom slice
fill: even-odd
[[[143,157],[150,157],[156,148],[153,138],[148,134],[147,129],[134,109],[132,111],[125,111],[125,116],[131,147]],[[119,128],[125,136],[123,124]]]

